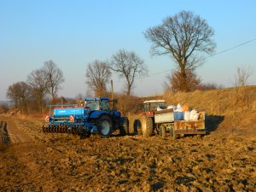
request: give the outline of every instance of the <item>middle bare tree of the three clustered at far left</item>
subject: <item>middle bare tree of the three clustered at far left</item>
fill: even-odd
[[[47,93],[48,77],[44,68],[36,69],[27,76],[27,84],[32,88],[33,94],[37,97],[38,108],[43,113],[44,96]]]

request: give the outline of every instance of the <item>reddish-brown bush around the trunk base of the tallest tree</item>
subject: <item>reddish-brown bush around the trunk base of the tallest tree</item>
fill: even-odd
[[[201,89],[201,79],[197,77],[193,70],[186,71],[188,90],[193,91]],[[182,90],[182,75],[179,71],[172,70],[172,73],[166,76],[165,88],[177,92]]]

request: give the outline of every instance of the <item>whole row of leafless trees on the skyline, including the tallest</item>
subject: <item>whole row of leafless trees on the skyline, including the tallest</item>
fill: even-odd
[[[166,90],[177,92],[217,87],[216,84],[202,84],[196,74],[197,67],[204,61],[202,55],[211,55],[216,46],[212,40],[214,30],[199,15],[181,11],[166,17],[160,25],[149,27],[143,35],[152,43],[151,55],[170,55],[172,58],[175,68],[166,76]],[[90,62],[85,79],[95,96],[108,93],[107,84],[113,73],[125,80],[125,96],[131,96],[136,79],[147,76],[148,67],[135,52],[125,49],[119,49],[109,60]],[[10,85],[6,96],[21,113],[31,109],[43,113],[45,96],[50,96],[51,103],[55,103],[63,82],[61,69],[54,61],[45,61],[44,67],[28,74],[26,82]],[[31,103],[37,105],[28,108]]]

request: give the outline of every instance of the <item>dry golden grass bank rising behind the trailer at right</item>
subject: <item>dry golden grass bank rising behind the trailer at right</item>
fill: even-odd
[[[166,92],[158,99],[166,100],[168,105],[189,105],[189,108],[203,110],[207,115],[207,127],[210,131],[232,130],[236,128],[256,127],[256,86],[245,86],[243,94],[237,95],[236,88],[220,90],[195,90],[183,93]],[[240,92],[241,93],[241,92]],[[151,97],[144,100],[152,99]],[[128,114],[130,129],[137,114]]]

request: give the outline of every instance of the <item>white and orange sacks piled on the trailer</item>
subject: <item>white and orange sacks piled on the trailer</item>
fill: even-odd
[[[183,107],[178,103],[177,106],[170,105],[167,108],[172,108],[174,112],[174,120],[197,120],[199,113],[195,109],[189,109],[189,106]]]

